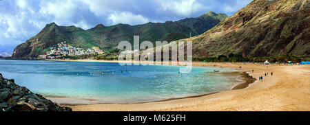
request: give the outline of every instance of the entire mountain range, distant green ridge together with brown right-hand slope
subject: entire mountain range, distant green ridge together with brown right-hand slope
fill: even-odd
[[[193,57],[238,54],[244,57],[310,56],[310,0],[254,0],[233,16],[207,12],[198,18],[143,25],[79,27],[46,25],[14,49],[13,57],[37,56],[67,41],[78,47],[116,47],[120,41],[193,41]],[[193,37],[189,37],[189,34]]]

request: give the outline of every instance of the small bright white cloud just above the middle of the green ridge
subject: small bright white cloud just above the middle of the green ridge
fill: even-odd
[[[131,12],[114,12],[113,14],[110,14],[107,19],[109,19],[113,25],[118,23],[137,25],[149,22],[149,19],[141,16],[140,14],[132,14]]]

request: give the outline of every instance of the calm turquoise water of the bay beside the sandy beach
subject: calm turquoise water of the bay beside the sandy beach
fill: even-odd
[[[95,99],[105,103],[132,103],[182,98],[226,91],[240,75],[229,68],[193,67],[178,73],[179,66],[131,65],[114,62],[50,62],[0,60],[0,73],[34,93]],[[127,69],[127,71],[125,71]],[[214,73],[213,70],[220,70]]]

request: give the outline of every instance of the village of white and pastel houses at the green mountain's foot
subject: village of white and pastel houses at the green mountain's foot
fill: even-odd
[[[99,49],[99,47],[92,47],[84,50],[79,47],[67,45],[67,43],[63,41],[61,43],[58,43],[57,45],[53,45],[53,47],[50,47],[49,52],[43,55],[39,55],[38,58],[53,59],[53,58],[64,58],[68,56],[81,56],[81,55],[93,55],[93,54],[103,54],[103,50]]]

